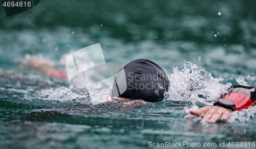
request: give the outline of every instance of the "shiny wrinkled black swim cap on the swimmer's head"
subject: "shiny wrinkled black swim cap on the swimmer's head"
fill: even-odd
[[[164,70],[158,64],[150,60],[138,59],[126,64],[123,69],[127,88],[120,95],[112,92],[112,97],[119,96],[146,102],[160,102],[163,100],[164,92],[169,88],[169,81]],[[117,84],[119,83],[117,82],[120,82],[118,81],[121,80],[120,76],[124,76],[119,72],[116,75],[113,90],[118,90]]]

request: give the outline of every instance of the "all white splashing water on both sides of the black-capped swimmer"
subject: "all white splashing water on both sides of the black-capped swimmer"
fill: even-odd
[[[213,78],[211,73],[208,73],[204,68],[198,67],[196,64],[188,62],[187,65],[190,68],[187,68],[186,64],[184,64],[184,68],[182,70],[178,70],[178,67],[174,67],[173,73],[168,75],[170,87],[169,90],[165,93],[164,99],[164,101],[185,102],[187,104],[191,103],[191,107],[185,107],[183,109],[183,111],[186,111],[186,113],[188,113],[189,109],[197,109],[198,106],[212,106],[217,98],[221,97],[223,94],[228,93],[228,89],[232,86],[231,83],[221,84],[220,82],[224,81],[223,78]],[[244,78],[237,78],[236,80],[240,85],[248,85]],[[98,85],[105,86],[106,84]],[[73,93],[71,89],[78,93]],[[84,94],[84,91],[77,91],[76,87],[70,86],[70,89],[65,87],[57,88],[48,96],[48,98],[46,98],[46,100],[59,102],[76,101],[86,105],[98,105],[102,103],[101,101],[104,100],[106,96],[108,96],[108,90],[93,91],[90,96],[97,98],[98,100],[91,101],[88,93]],[[135,101],[135,103],[137,102],[140,101]],[[113,104],[118,104],[118,106],[114,106]],[[144,102],[142,105],[144,104],[148,103]],[[114,101],[112,104],[106,103],[103,105],[100,104],[98,106],[101,108],[112,107],[114,109],[119,109],[121,107],[120,109],[125,109],[127,105],[134,108],[134,105],[137,104],[134,104],[134,101]],[[235,111],[233,112],[233,115],[227,120],[227,122],[244,122],[250,118],[254,119],[256,117],[255,113],[256,107]],[[200,120],[200,118],[201,117],[198,117],[196,120]]]

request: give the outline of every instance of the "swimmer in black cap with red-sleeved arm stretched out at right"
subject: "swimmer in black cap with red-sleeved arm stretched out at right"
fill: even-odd
[[[112,100],[135,101],[143,100],[145,102],[161,102],[164,99],[164,93],[168,91],[169,81],[164,70],[155,62],[145,59],[134,60],[124,67],[127,89],[118,95],[113,93],[117,90],[113,85],[111,96],[108,96],[108,102]],[[116,80],[121,75],[117,73]],[[227,120],[233,111],[240,111],[254,106],[256,99],[256,88],[241,85],[233,85],[227,95],[219,98],[214,106],[205,106],[196,110],[189,110],[189,115],[184,118],[193,118],[204,115],[201,122],[216,122]]]

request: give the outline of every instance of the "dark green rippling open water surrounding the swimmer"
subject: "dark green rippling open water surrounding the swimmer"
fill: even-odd
[[[152,148],[148,142],[254,148],[255,108],[234,112],[226,122],[201,124],[183,116],[189,108],[211,105],[231,84],[256,87],[255,6],[256,1],[45,0],[10,17],[1,6],[1,148]],[[68,79],[18,68],[30,54],[65,70],[67,55],[95,43],[106,62],[144,58],[165,68],[172,81],[167,101],[92,106],[78,88],[72,89],[75,100],[46,100],[56,88],[69,88]]]

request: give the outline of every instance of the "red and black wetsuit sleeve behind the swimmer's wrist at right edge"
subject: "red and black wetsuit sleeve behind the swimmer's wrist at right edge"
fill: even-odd
[[[250,106],[255,106],[254,104],[254,94],[255,88],[245,87],[245,86],[234,86],[229,94],[225,95],[223,98],[229,100],[236,105],[236,110],[240,111],[242,109],[247,109]]]

